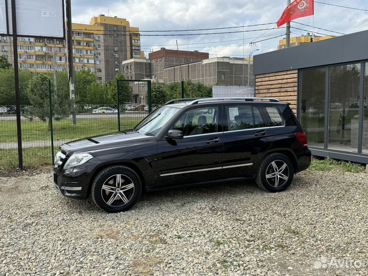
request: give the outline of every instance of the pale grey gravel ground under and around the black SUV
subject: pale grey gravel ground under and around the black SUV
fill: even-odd
[[[307,171],[145,194],[126,213],[0,178],[0,275],[367,275],[368,175]]]

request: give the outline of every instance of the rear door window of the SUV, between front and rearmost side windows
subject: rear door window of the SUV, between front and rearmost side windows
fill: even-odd
[[[258,107],[251,105],[226,106],[226,131],[265,127]]]

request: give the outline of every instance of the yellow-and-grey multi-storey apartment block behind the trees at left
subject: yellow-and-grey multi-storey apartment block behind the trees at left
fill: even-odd
[[[99,15],[90,25],[72,24],[75,71],[90,70],[101,82],[120,73],[121,62],[144,58],[139,28],[130,27],[124,18]],[[18,37],[18,64],[36,73],[67,70],[65,40],[44,37]],[[13,64],[12,37],[0,37],[0,55]],[[54,61],[55,59],[55,61]]]

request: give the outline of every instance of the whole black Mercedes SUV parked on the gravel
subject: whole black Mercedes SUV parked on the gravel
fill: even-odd
[[[129,210],[142,191],[239,177],[280,192],[311,163],[294,113],[271,98],[173,100],[131,130],[60,148],[55,188],[66,197],[91,195],[111,213]]]

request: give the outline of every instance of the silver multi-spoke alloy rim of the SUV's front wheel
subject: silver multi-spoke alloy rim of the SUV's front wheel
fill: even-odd
[[[134,183],[124,174],[115,174],[107,178],[101,189],[102,199],[107,205],[121,207],[134,195]]]

